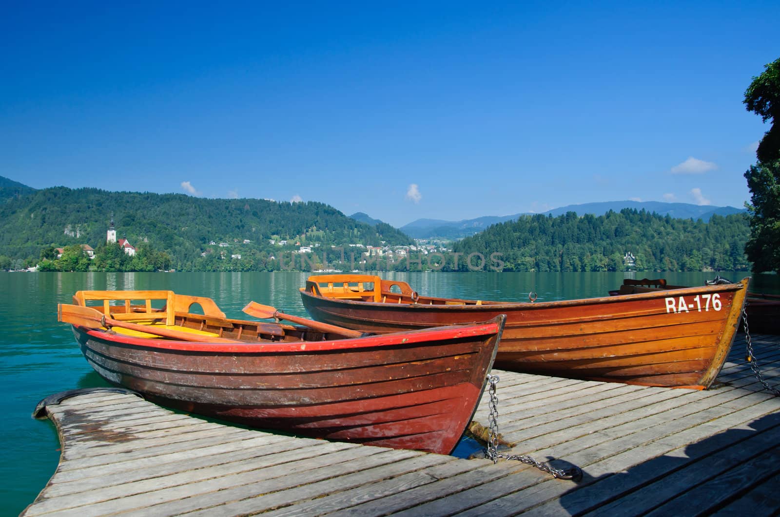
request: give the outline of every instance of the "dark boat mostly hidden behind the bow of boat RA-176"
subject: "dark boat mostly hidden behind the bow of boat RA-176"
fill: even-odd
[[[626,278],[619,289],[611,290],[609,294],[614,296],[615,294],[647,293],[651,290],[683,289],[684,287],[687,286],[667,285],[664,278],[643,278],[642,280]],[[750,332],[780,334],[780,295],[749,292],[745,311]],[[742,323],[740,323],[739,329],[742,329]]]

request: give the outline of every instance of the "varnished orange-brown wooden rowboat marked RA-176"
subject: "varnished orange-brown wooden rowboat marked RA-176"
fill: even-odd
[[[736,334],[749,279],[569,301],[518,303],[420,296],[369,275],[310,276],[312,318],[398,332],[507,316],[495,367],[629,384],[705,389]]]

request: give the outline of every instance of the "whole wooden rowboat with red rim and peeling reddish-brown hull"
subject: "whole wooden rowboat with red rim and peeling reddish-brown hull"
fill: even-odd
[[[152,308],[159,300],[165,308]],[[73,324],[90,366],[154,402],[252,427],[443,454],[473,417],[505,319],[343,339],[225,318],[210,298],[172,291],[79,291],[73,301],[59,305],[58,318]],[[193,314],[193,304],[204,314]]]

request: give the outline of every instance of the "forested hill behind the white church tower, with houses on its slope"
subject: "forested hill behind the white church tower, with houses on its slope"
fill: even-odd
[[[225,254],[228,259],[251,257],[243,261],[246,267],[264,269],[275,252],[292,252],[295,246],[413,244],[386,223],[360,223],[321,202],[202,199],[97,188],[23,192],[0,203],[0,255],[12,259],[37,259],[51,246],[89,244],[97,249],[105,244],[112,218],[117,237],[166,252],[174,269],[203,269],[204,262]]]

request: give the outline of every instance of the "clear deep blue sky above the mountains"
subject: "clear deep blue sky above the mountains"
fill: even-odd
[[[16,2],[0,175],[395,226],[743,206],[780,2]]]

